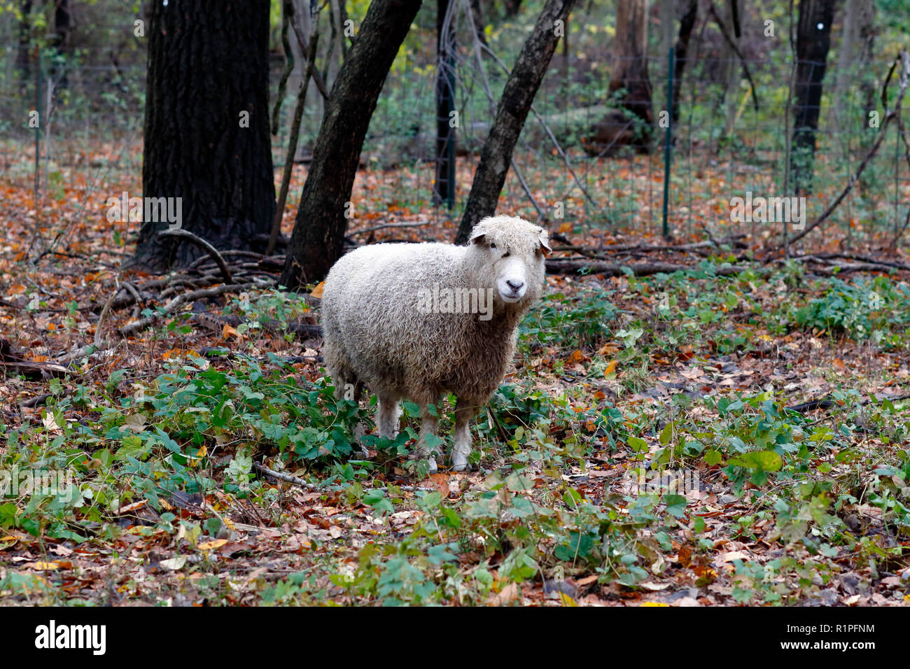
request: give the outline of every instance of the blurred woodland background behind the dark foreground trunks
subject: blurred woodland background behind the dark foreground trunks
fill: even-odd
[[[809,220],[824,210],[871,146],[877,130],[870,127],[868,112],[883,112],[880,87],[905,44],[908,25],[905,0],[828,4],[834,9],[834,22],[816,138],[816,156],[823,167],[814,171],[814,192],[831,196],[809,198]],[[541,5],[535,0],[475,0],[470,19],[478,22],[480,40],[489,52],[484,48],[480,53],[475,46],[469,17],[462,11],[455,18],[454,106],[460,114],[455,211],[467,198],[506,79],[504,67],[517,56]],[[316,64],[330,85],[347,52],[348,38],[340,25],[337,0],[320,6]],[[361,156],[358,183],[369,183],[370,188],[369,197],[355,201],[361,220],[450,215],[433,199],[439,6],[445,4],[420,7],[379,96]],[[365,0],[353,0],[345,10],[359,25],[367,7]],[[698,233],[705,226],[723,235],[751,228],[730,221],[726,212],[731,198],[744,191],[790,194],[784,178],[791,148],[788,123],[791,132],[793,127],[787,104],[794,74],[791,22],[795,24],[796,15],[791,4],[775,0],[650,3],[646,71],[657,132],[653,150],[642,156],[622,143],[610,145],[616,134],[609,122],[616,99],[611,96],[611,78],[621,62],[614,57],[616,2],[588,0],[575,5],[534,100],[536,114],[545,119],[561,149],[554,147],[543,123],[534,114],[529,116],[516,156],[534,201],[513,170],[502,210],[532,220],[563,218],[561,224],[567,222],[578,232],[660,227],[664,135],[657,123],[659,112],[668,107],[668,50],[677,46],[682,23],[688,21],[688,60],[674,82],[680,102],[671,157],[671,226],[682,234]],[[137,20],[146,21],[147,29],[147,6],[137,1],[21,0],[0,5],[5,45],[0,52],[0,179],[34,181],[36,139],[37,186],[51,196],[82,180],[91,183],[105,172],[139,177],[147,37],[135,35]],[[291,31],[288,44],[296,52],[296,62],[279,93],[286,66],[279,0],[271,2],[270,24],[270,112],[275,111],[276,100],[283,99],[273,119],[277,130],[273,164],[279,172],[306,55]],[[197,95],[216,96],[217,91]],[[301,163],[310,155],[323,106],[310,83],[296,151]],[[28,123],[29,110],[36,108],[45,119],[40,132]],[[859,188],[821,229],[836,229],[837,238],[846,238],[857,249],[886,246],[907,222],[908,174],[905,140],[889,133]],[[140,188],[136,184],[130,190]],[[105,192],[103,198],[108,195]],[[292,189],[288,206],[297,205]]]

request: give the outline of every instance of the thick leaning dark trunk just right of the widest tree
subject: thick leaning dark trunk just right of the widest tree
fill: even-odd
[[[341,257],[363,137],[420,0],[373,0],[332,85],[313,148],[281,283],[324,279]],[[352,206],[352,205],[351,205]]]

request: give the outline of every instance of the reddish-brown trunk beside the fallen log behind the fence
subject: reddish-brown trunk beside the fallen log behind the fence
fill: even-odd
[[[610,73],[610,93],[625,90],[619,104],[641,119],[636,147],[650,147],[652,130],[651,81],[648,79],[648,2],[617,0],[616,41]]]

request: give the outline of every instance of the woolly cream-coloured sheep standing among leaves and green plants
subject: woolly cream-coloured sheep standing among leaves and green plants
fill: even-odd
[[[379,436],[393,439],[399,401],[420,406],[417,457],[437,471],[438,405],[456,396],[454,471],[468,466],[469,421],[511,364],[521,316],[541,297],[548,235],[522,218],[483,218],[467,246],[376,244],[329,270],[322,292],[323,360],[335,396],[379,396]]]

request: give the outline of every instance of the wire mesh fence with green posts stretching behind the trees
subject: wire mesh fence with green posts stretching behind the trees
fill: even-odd
[[[369,182],[369,188],[358,191],[362,201],[355,205],[373,218],[426,216],[427,212],[436,218],[458,218],[468,196],[480,148],[524,33],[520,26],[506,27],[501,35],[490,34],[484,44],[475,36],[466,5],[453,5],[458,113],[455,207],[450,211],[432,197],[435,48],[412,44],[402,49],[389,74],[364,144],[359,185]],[[423,23],[433,22],[435,16],[429,16]],[[794,195],[788,187],[788,171],[794,165],[790,146],[793,58],[786,38],[744,48],[748,53],[743,59],[724,54],[719,35],[696,25],[682,79],[673,82],[680,94],[669,152],[660,124],[672,116],[667,100],[670,69],[662,44],[653,39],[647,82],[652,90],[652,150],[635,152],[611,143],[609,132],[604,135],[604,129],[609,130],[606,119],[615,109],[609,94],[615,60],[612,35],[605,25],[584,11],[573,14],[566,25],[568,46],[563,43],[553,57],[535,98],[516,147],[516,169],[510,171],[501,209],[524,218],[546,219],[562,231],[657,234],[662,226],[664,161],[669,155],[667,210],[675,234],[750,233],[761,239],[780,233],[786,223],[773,216],[769,219],[767,210],[764,217],[752,214],[761,198]],[[881,89],[895,55],[882,54],[846,70],[835,54],[829,56],[823,81],[811,187],[804,200],[794,202],[794,207],[804,207],[791,212],[789,224],[794,229],[811,223],[850,183],[885,114]],[[61,62],[50,48],[33,49],[29,56],[23,62],[21,53],[7,48],[0,69],[0,178],[33,183],[37,138],[39,186],[45,192],[59,187],[74,170],[90,174],[119,170],[141,183],[142,58],[105,63],[99,54],[83,49]],[[281,57],[275,56],[272,103],[282,67]],[[748,78],[743,76],[746,71]],[[896,78],[889,88],[885,101],[893,104]],[[278,135],[273,138],[277,168],[286,159],[296,91],[292,77]],[[318,97],[313,92],[308,96],[301,126],[297,158],[303,165],[319,132]],[[35,110],[43,120],[40,127],[30,126]],[[906,138],[897,130],[896,124],[888,129],[850,195],[809,239],[837,238],[842,245],[864,249],[893,246],[902,237],[910,222],[910,154]],[[296,207],[297,198],[292,190],[290,207]],[[736,198],[753,205],[740,211],[747,215],[737,215]]]

